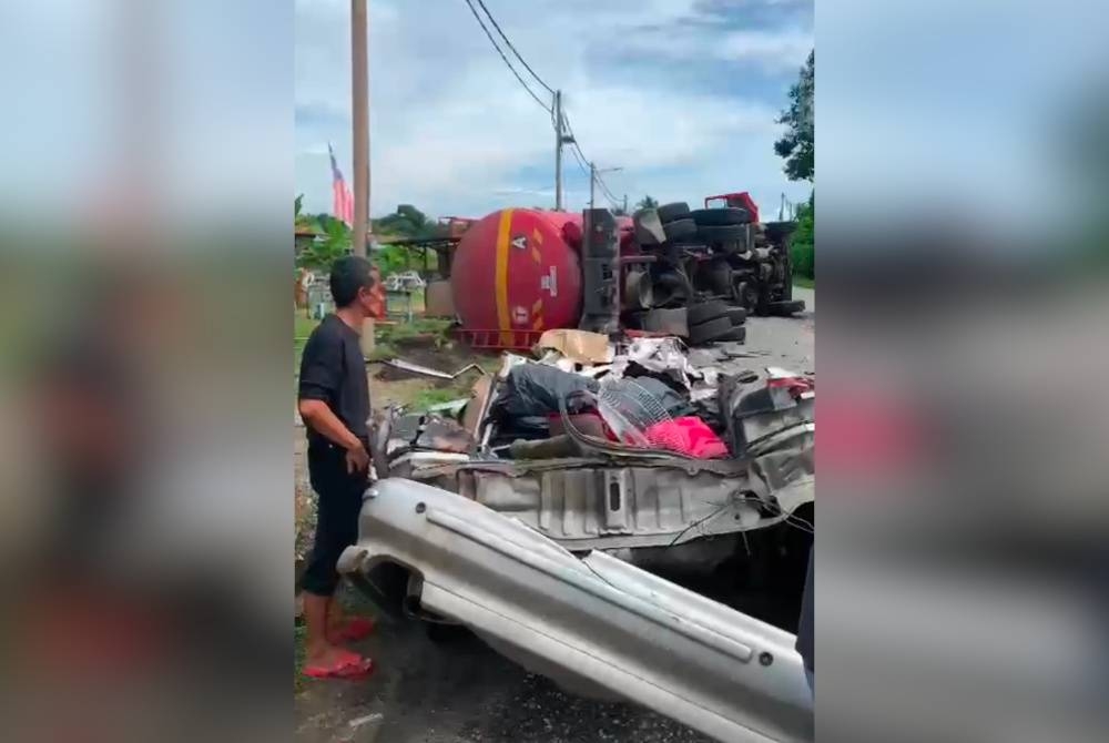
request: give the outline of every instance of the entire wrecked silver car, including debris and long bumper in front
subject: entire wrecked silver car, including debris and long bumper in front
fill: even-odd
[[[377,421],[383,479],[340,571],[579,693],[720,740],[812,740],[792,632],[814,379],[749,369],[737,344],[560,333],[462,405]]]

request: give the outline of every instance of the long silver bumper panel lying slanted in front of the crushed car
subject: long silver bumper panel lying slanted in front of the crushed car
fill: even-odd
[[[339,570],[396,563],[421,608],[571,690],[630,700],[721,741],[811,741],[793,634],[603,552],[579,558],[520,520],[424,484],[367,491]]]

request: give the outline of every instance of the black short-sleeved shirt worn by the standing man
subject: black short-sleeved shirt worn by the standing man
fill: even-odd
[[[308,336],[301,356],[301,399],[323,400],[350,432],[368,444],[369,384],[358,334],[335,315],[328,315]],[[308,445],[328,440],[307,427]]]

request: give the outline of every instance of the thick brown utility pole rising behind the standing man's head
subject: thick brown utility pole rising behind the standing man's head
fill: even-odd
[[[350,0],[350,98],[354,110],[354,232],[355,255],[366,255],[369,233],[369,63],[367,61],[367,0]]]

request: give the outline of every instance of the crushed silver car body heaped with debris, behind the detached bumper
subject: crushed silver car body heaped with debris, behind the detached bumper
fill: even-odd
[[[572,552],[711,571],[745,532],[810,521],[813,503],[812,383],[746,369],[732,350],[699,350],[706,365],[694,367],[676,339],[643,338],[577,370],[564,356],[560,367],[506,355],[459,419],[401,410],[380,421],[378,474],[456,492]],[[651,426],[691,418],[719,437],[716,456]],[[655,444],[633,440],[640,429]]]

